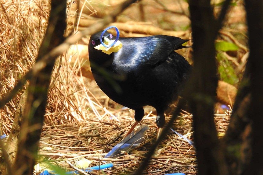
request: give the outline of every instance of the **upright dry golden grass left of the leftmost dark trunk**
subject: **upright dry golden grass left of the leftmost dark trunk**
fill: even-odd
[[[34,64],[47,26],[49,4],[41,0],[34,2],[4,0],[0,5],[0,97],[2,98]],[[1,130],[5,134],[10,132],[16,104],[24,89],[0,109]]]

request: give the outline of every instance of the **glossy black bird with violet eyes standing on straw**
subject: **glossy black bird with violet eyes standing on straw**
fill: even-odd
[[[178,98],[182,84],[192,70],[188,61],[175,52],[185,48],[182,44],[188,40],[166,35],[120,37],[122,48],[106,54],[94,49],[101,44],[101,33],[93,34],[88,44],[95,81],[113,101],[135,110],[135,123],[127,135],[142,120],[143,107],[155,107],[158,137],[165,124],[164,111]],[[103,42],[105,38],[114,40],[116,37],[106,32]]]

